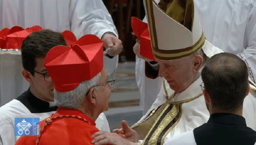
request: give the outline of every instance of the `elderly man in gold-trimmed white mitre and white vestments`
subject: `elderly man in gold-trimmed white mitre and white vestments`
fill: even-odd
[[[166,0],[168,1],[168,0]],[[191,131],[209,119],[201,90],[201,70],[207,60],[223,51],[205,37],[193,0],[169,0],[159,8],[154,0],[145,0],[148,28],[159,77],[163,85],[157,99],[135,125],[114,130],[121,137],[99,132],[93,143],[163,145],[172,136]],[[256,85],[250,81],[250,93],[244,99],[243,117],[256,130]],[[117,135],[116,134],[116,135]],[[140,144],[140,143],[136,143]]]

